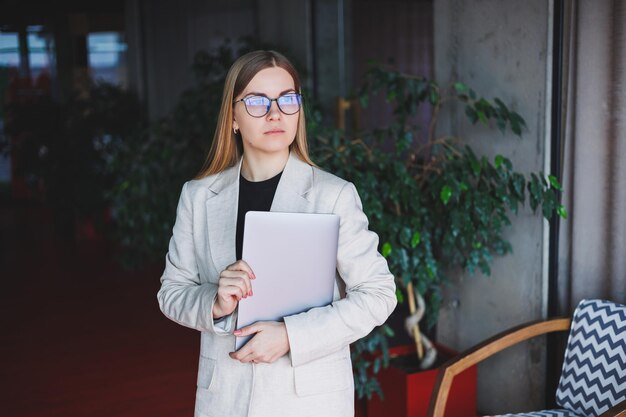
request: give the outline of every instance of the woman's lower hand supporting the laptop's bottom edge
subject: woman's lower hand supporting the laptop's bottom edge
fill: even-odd
[[[289,338],[285,323],[259,321],[240,330],[235,330],[235,336],[251,334],[254,336],[248,343],[237,352],[229,353],[231,358],[242,363],[273,363],[289,352]]]

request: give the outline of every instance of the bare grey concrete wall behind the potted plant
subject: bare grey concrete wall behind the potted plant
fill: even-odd
[[[545,0],[436,0],[435,78],[462,81],[485,98],[501,98],[525,118],[520,140],[494,127],[471,126],[462,106],[442,114],[439,133],[462,135],[478,154],[508,156],[521,172],[543,170],[549,5]],[[496,258],[492,276],[461,275],[445,294],[440,342],[466,349],[543,315],[543,221],[525,209],[506,234],[514,253]],[[541,409],[545,340],[535,339],[479,367],[479,413]]]

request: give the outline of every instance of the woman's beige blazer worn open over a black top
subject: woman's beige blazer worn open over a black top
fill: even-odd
[[[349,344],[396,306],[378,236],[354,185],[290,155],[271,211],[340,216],[335,301],[285,317],[290,352],[276,362],[233,360],[236,311],[222,323],[226,331],[211,311],[219,273],[236,260],[240,169],[241,162],[183,186],[157,295],[163,314],[201,332],[195,416],[353,416]]]

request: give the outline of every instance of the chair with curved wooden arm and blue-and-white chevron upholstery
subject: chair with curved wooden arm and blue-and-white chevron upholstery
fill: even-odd
[[[507,416],[626,417],[626,306],[582,300],[572,320],[533,322],[504,332],[456,356],[438,374],[429,417],[443,417],[455,375],[532,337],[570,328],[556,392],[560,409]]]

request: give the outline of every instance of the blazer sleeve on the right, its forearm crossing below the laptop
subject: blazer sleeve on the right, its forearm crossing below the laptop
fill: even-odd
[[[284,318],[293,366],[329,355],[367,335],[387,320],[397,304],[393,275],[378,253],[378,236],[368,230],[352,183],[343,186],[333,213],[340,216],[337,271],[346,284],[346,296]]]

